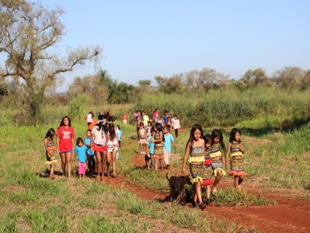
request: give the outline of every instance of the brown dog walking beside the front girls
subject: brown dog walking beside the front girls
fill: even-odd
[[[185,202],[185,195],[183,195],[184,186],[185,184],[191,185],[190,178],[188,175],[186,176],[171,176],[168,178],[168,173],[166,173],[167,180],[169,181],[169,187],[170,187],[170,201],[172,201],[173,198],[173,192],[175,190],[179,191],[179,195],[177,197],[177,200],[182,199]]]

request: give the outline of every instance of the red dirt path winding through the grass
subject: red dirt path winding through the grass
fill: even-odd
[[[183,133],[181,130],[180,133]],[[140,154],[136,154],[133,158],[135,166],[144,167],[145,162],[141,159]],[[166,173],[167,170],[164,170]],[[169,170],[170,174],[180,175],[181,171],[176,169]],[[124,188],[136,193],[143,199],[160,199],[166,200],[167,195],[158,194],[151,190],[142,189],[135,185],[125,183],[125,177],[105,178],[106,183],[113,187]],[[233,185],[233,180],[221,181],[220,188]],[[296,195],[288,197],[285,194],[267,193],[262,189],[255,187],[252,183],[245,181],[243,189],[255,194],[262,194],[264,198],[277,202],[273,206],[263,207],[220,207],[216,205],[208,206],[204,211],[210,212],[220,219],[229,222],[237,222],[239,225],[249,229],[254,228],[263,233],[308,233],[310,232],[310,200],[297,200]]]

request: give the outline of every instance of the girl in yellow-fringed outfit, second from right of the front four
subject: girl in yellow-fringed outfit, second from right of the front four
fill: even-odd
[[[223,142],[223,134],[220,130],[215,129],[211,133],[211,149],[210,149],[210,158],[212,160],[211,167],[213,169],[213,176],[215,180],[213,186],[211,187],[211,193],[216,195],[218,183],[222,179],[223,175],[226,175],[226,172],[222,169],[222,164],[225,163],[223,151],[226,151],[225,144]]]

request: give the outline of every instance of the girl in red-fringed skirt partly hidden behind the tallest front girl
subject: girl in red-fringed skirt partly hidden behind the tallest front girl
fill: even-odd
[[[211,167],[212,161],[210,159],[210,147],[211,147],[211,135],[209,133],[203,136],[204,140],[204,150],[205,150],[205,157],[204,157],[204,173],[202,177],[202,187],[204,185],[207,186],[207,205],[211,205],[210,199],[210,192],[211,192],[211,185],[213,184],[212,175],[213,170]]]

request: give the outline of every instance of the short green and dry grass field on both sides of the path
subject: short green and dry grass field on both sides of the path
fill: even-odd
[[[101,111],[106,110],[105,107],[108,108],[104,106]],[[110,108],[120,116],[124,109],[135,106]],[[67,111],[67,106],[48,108],[43,126],[17,126],[12,120],[15,109],[1,106],[1,232],[257,232],[199,209],[142,200],[122,187],[113,188],[91,178],[78,180],[74,162],[71,180],[59,177],[50,181],[46,173],[48,166],[43,139],[49,128],[58,128]],[[85,111],[85,115],[87,113]],[[310,124],[303,123],[293,129],[281,128],[283,120],[294,120],[294,117],[286,117],[282,112],[278,116],[259,114],[252,119],[240,120],[234,126],[241,129],[246,149],[247,180],[255,180],[263,189],[290,187],[300,193],[300,198],[310,199]],[[132,164],[134,151],[138,150],[134,127],[123,125],[119,120],[116,124],[121,125],[122,144],[127,145],[122,148],[117,164],[118,174],[125,176],[128,183],[157,193],[168,193],[165,176],[147,169],[135,169]],[[77,137],[85,138],[83,119],[72,121],[72,126]],[[220,127],[226,144],[231,128]],[[204,128],[204,133],[211,133],[212,129]],[[177,138],[178,149],[172,154],[171,165],[179,171],[188,135],[189,131]],[[56,171],[61,171],[60,162]],[[189,186],[186,193],[192,194]],[[232,188],[220,189],[214,202],[222,206],[274,204],[253,193],[235,193]]]

